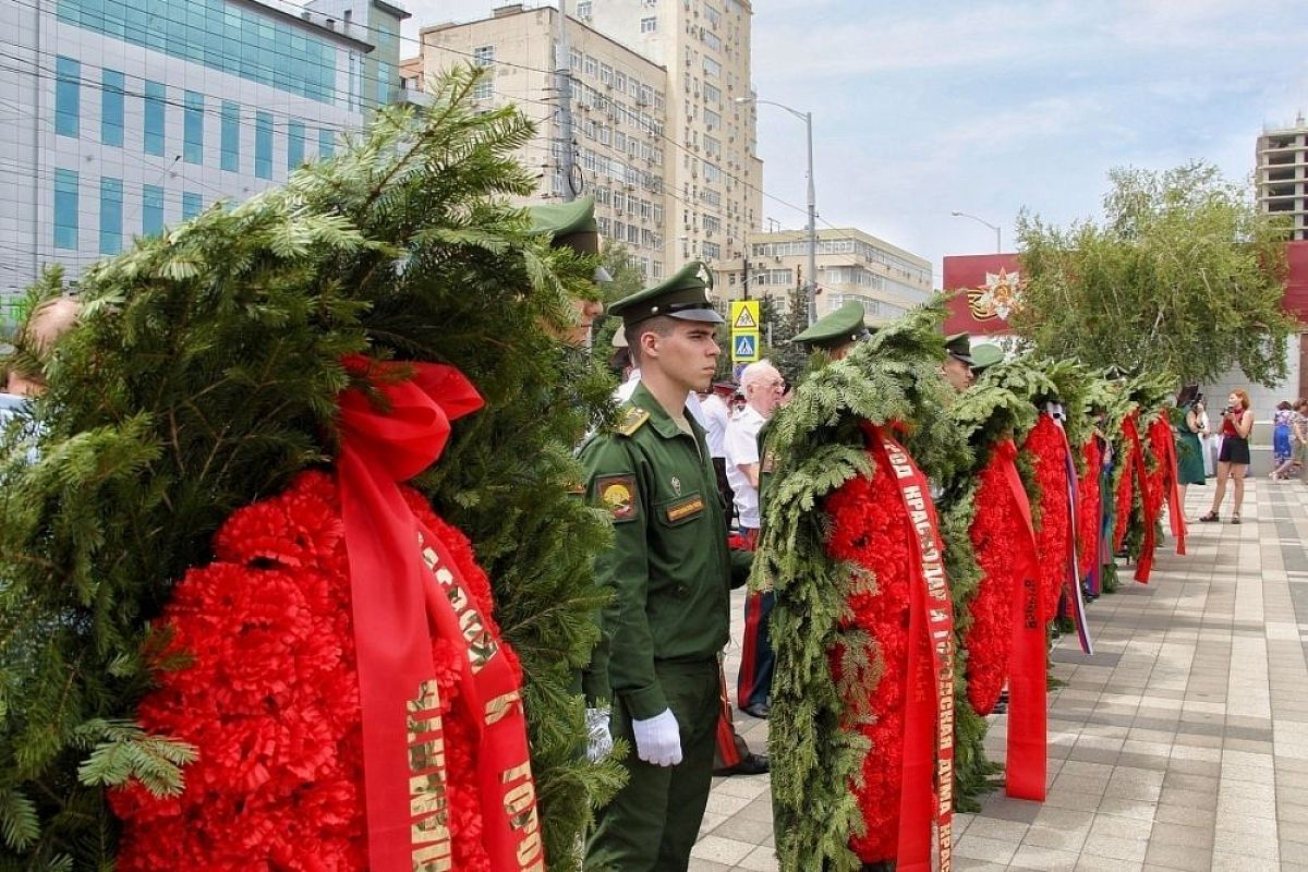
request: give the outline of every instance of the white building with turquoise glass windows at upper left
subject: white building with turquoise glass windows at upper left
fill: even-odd
[[[69,278],[303,161],[399,85],[382,0],[8,0],[0,294]]]

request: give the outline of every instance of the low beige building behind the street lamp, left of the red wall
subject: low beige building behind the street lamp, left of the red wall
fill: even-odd
[[[715,264],[713,293],[719,299],[770,294],[786,309],[791,292],[807,282],[807,231],[751,233],[748,243],[748,258]],[[816,260],[819,316],[857,299],[869,323],[883,323],[933,293],[929,260],[853,227],[819,230]]]

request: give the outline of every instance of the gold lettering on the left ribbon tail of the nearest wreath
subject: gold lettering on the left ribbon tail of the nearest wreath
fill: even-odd
[[[445,800],[445,732],[441,689],[434,679],[419,685],[405,705],[409,763],[409,856],[413,872],[453,869]]]

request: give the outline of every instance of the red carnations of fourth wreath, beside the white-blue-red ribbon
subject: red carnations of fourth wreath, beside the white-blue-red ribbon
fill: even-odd
[[[1040,485],[1040,526],[1036,553],[1040,556],[1040,614],[1052,621],[1058,611],[1071,561],[1071,506],[1067,493],[1066,441],[1058,424],[1041,414],[1027,434],[1022,450],[1031,458]]]

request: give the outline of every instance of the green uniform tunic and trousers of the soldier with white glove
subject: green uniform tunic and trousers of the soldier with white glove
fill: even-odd
[[[579,455],[587,494],[612,514],[615,537],[596,558],[613,599],[587,697],[612,699],[613,736],[633,748],[630,779],[600,811],[587,869],[685,868],[708,801],[731,558],[704,430],[689,417],[687,426],[640,384],[619,425]],[[667,709],[683,761],[659,767],[636,757],[630,722]]]

